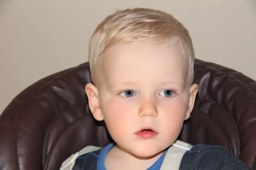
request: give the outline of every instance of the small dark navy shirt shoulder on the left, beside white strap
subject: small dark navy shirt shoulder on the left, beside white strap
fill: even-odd
[[[73,170],[96,170],[99,154],[102,149],[79,156]]]

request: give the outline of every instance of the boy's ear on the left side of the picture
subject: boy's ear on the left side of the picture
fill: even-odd
[[[93,114],[93,117],[98,121],[103,120],[102,111],[99,105],[98,89],[92,83],[88,83],[85,86],[85,92],[88,97],[89,108]]]

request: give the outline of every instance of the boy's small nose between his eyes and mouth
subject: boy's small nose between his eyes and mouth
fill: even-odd
[[[139,107],[139,116],[157,116],[157,106],[156,101],[154,99],[142,99]]]

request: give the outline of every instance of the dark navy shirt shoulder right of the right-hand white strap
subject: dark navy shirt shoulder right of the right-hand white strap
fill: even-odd
[[[225,147],[197,144],[188,150],[181,161],[180,170],[250,170]]]

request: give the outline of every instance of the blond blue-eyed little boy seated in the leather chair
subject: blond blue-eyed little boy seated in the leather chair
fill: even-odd
[[[103,20],[90,39],[94,84],[85,91],[115,143],[80,156],[73,170],[159,170],[194,107],[194,59],[189,32],[170,14],[134,8]],[[190,148],[180,170],[250,169],[223,147]]]

